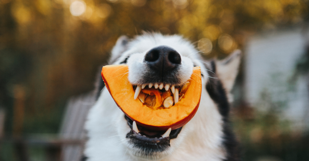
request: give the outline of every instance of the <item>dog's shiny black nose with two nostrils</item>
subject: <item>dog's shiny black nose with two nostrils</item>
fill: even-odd
[[[147,65],[160,75],[174,70],[180,63],[180,54],[168,46],[158,46],[149,50],[145,55]],[[161,73],[162,72],[162,73]]]

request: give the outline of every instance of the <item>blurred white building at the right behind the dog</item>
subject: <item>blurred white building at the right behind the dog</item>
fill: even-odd
[[[245,100],[261,111],[277,106],[300,131],[309,129],[309,74],[293,74],[308,43],[304,33],[296,28],[252,36],[244,57]]]

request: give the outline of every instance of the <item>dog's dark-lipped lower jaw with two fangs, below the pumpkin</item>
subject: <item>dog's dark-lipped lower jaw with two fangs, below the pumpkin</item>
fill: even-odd
[[[167,131],[153,131],[145,129],[125,115],[128,125],[131,128],[131,131],[127,134],[126,138],[137,139],[142,142],[146,142],[148,146],[159,146],[159,145],[168,145],[170,146],[170,139],[177,138],[182,127],[175,130]]]

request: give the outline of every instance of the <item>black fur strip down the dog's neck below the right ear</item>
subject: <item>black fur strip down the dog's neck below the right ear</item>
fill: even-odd
[[[211,70],[216,73],[216,64],[211,61]],[[238,142],[236,141],[235,135],[231,130],[231,125],[229,121],[230,104],[227,99],[226,91],[216,74],[208,71],[210,77],[209,82],[206,84],[206,90],[210,95],[210,98],[218,105],[218,110],[223,117],[223,133],[224,141],[223,146],[226,149],[227,156],[224,161],[239,161],[240,151],[238,147]]]

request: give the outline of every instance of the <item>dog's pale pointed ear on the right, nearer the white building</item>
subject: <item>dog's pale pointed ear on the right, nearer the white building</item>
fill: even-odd
[[[216,61],[215,73],[221,80],[227,93],[230,93],[233,88],[239,70],[240,59],[241,51],[238,49],[233,51],[229,57]]]

